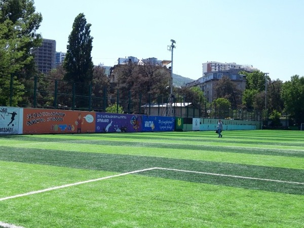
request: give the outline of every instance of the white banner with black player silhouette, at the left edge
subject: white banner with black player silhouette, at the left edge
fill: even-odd
[[[22,108],[0,106],[0,134],[22,134]]]

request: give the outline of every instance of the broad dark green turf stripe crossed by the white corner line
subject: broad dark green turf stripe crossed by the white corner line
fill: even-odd
[[[262,179],[304,182],[304,170],[302,169],[287,169],[232,163],[168,159],[160,157],[79,153],[74,151],[46,149],[24,149],[23,151],[8,150],[5,154],[3,150],[1,153],[1,160],[121,173],[151,167],[162,167]],[[140,175],[150,175],[184,181],[260,189],[272,192],[283,192],[300,195],[304,194],[304,186],[289,183],[278,182],[270,184],[267,181],[262,180],[240,180],[238,178],[226,176],[210,176],[200,173],[180,173],[173,171],[159,172],[153,170],[142,173]]]

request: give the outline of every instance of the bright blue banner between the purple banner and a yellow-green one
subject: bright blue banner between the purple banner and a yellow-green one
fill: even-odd
[[[143,131],[174,131],[174,117],[142,116]]]

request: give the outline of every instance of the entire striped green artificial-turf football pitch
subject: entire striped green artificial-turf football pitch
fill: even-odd
[[[304,227],[304,132],[0,136],[0,227]]]

